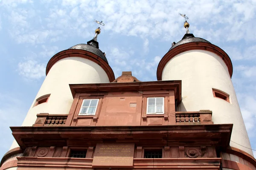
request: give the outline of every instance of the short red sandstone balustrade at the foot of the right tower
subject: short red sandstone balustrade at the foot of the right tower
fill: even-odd
[[[212,111],[201,110],[195,112],[176,112],[176,125],[213,124]]]

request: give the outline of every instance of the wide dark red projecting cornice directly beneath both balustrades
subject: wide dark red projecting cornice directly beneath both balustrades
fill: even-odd
[[[205,142],[212,140],[211,144],[227,147],[229,144],[232,124],[222,125],[154,125],[154,126],[49,126],[45,127],[10,127],[12,134],[22,149],[30,147],[31,143],[38,146],[47,146],[47,144],[58,143],[58,145],[81,146],[84,142],[89,146],[95,142],[109,141],[109,136],[113,139],[120,139],[125,142],[131,142],[139,139],[146,139],[148,136],[151,140],[143,140],[140,146],[153,145],[155,142],[166,145],[166,142],[173,141],[173,134],[179,134],[175,138],[176,142],[181,144],[189,142],[205,145]],[[44,130],[44,133],[42,133]],[[145,131],[147,133],[145,133]],[[211,135],[209,134],[211,131]],[[163,133],[164,132],[164,133]],[[193,134],[191,136],[191,134]],[[207,136],[208,135],[208,136]],[[83,140],[79,138],[83,136]],[[207,136],[207,138],[205,138]],[[88,139],[90,139],[88,141]],[[141,143],[141,142],[140,142]],[[144,145],[146,144],[146,145]],[[52,144],[53,145],[53,144]],[[71,146],[71,145],[70,145]],[[199,147],[200,148],[200,147]]]

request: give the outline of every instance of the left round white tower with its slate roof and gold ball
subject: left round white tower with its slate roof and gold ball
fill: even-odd
[[[69,84],[112,82],[115,77],[108,60],[99,49],[96,36],[55,54],[48,62],[46,78],[22,126],[32,126],[38,113],[68,114],[73,102]],[[16,141],[10,149],[19,147]]]

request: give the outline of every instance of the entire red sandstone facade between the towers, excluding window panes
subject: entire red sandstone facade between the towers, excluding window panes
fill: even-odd
[[[232,124],[215,125],[208,110],[175,111],[181,81],[140,82],[123,74],[113,83],[70,85],[68,115],[39,113],[32,127],[11,127],[20,147],[6,153],[1,170],[256,169],[252,156],[229,147]],[[146,114],[148,97],[163,97],[163,114]],[[99,99],[95,115],[79,115],[84,99]],[[76,150],[85,158],[71,158]],[[145,158],[152,150],[162,158]],[[224,153],[245,163],[221,159]]]

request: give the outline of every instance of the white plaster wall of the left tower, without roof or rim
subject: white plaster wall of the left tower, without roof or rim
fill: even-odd
[[[38,113],[68,114],[73,102],[69,84],[105,83],[108,75],[95,62],[81,57],[68,57],[56,62],[38,91],[22,126],[32,126]],[[36,99],[51,94],[48,102],[34,106]],[[16,141],[12,148],[18,147]]]

